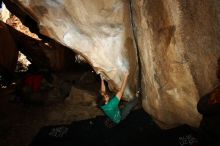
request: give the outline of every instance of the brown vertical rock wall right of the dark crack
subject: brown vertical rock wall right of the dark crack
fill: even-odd
[[[217,6],[206,0],[139,0],[132,6],[144,109],[161,126],[198,126],[199,96],[218,83]]]

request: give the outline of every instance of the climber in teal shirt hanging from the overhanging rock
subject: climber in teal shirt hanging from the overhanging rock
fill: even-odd
[[[105,115],[110,119],[110,120],[107,119],[105,121],[105,124],[108,127],[116,126],[117,124],[120,123],[120,121],[124,120],[138,102],[137,97],[139,96],[138,95],[139,92],[137,92],[136,94],[137,97],[134,98],[134,100],[127,102],[126,105],[121,109],[119,107],[119,102],[124,94],[128,76],[129,73],[126,72],[120,90],[112,98],[110,98],[110,96],[106,94],[104,79],[101,76],[101,96],[99,97],[98,105],[103,110]]]

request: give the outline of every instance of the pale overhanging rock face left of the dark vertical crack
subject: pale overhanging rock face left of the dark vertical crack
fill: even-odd
[[[137,55],[130,25],[129,3],[121,0],[16,1],[39,22],[41,33],[82,55],[97,73],[120,87],[131,74],[125,95],[133,98],[137,85]]]

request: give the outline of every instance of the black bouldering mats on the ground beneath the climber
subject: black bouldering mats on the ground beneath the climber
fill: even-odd
[[[162,130],[142,109],[135,110],[119,125],[109,128],[105,116],[43,127],[30,146],[198,146],[196,132],[187,125]]]

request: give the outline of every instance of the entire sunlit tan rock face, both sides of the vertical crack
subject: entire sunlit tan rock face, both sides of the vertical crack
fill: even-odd
[[[43,34],[81,54],[111,89],[129,70],[127,99],[138,88],[140,59],[146,112],[161,127],[198,126],[199,97],[218,84],[218,0],[14,2],[39,22]]]

